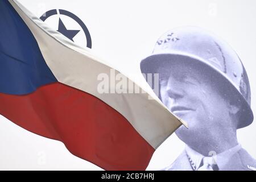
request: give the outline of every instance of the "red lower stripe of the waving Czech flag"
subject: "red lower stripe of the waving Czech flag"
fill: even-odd
[[[144,170],[154,148],[118,111],[91,94],[55,82],[23,96],[0,93],[0,113],[16,125],[60,140],[106,170]]]

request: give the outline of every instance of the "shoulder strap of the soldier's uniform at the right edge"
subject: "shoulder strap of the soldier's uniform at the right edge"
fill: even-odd
[[[247,170],[256,171],[256,160],[245,150],[238,151],[243,167]]]

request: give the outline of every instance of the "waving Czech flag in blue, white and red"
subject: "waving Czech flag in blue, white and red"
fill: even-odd
[[[146,169],[181,125],[152,94],[97,92],[112,68],[19,2],[0,1],[0,29],[0,114],[16,125],[107,170]]]

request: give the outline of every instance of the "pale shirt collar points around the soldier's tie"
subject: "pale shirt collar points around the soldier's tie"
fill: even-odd
[[[226,150],[224,152],[221,152],[220,154],[214,155],[214,161],[217,163],[218,168],[224,167],[229,159],[236,154],[240,149],[242,148],[241,144],[237,144],[236,146],[230,148],[229,150]],[[200,154],[199,152],[193,150],[191,147],[186,146],[185,152],[187,152],[188,158],[191,159],[191,165],[195,165],[195,170],[197,170],[200,167],[200,164],[205,157],[204,155]]]

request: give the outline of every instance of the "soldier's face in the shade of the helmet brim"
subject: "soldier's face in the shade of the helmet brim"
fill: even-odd
[[[181,126],[176,130],[184,142],[211,135],[230,124],[227,102],[211,84],[213,80],[200,69],[185,64],[172,65],[160,68],[159,77],[163,104],[188,123],[188,129]]]

